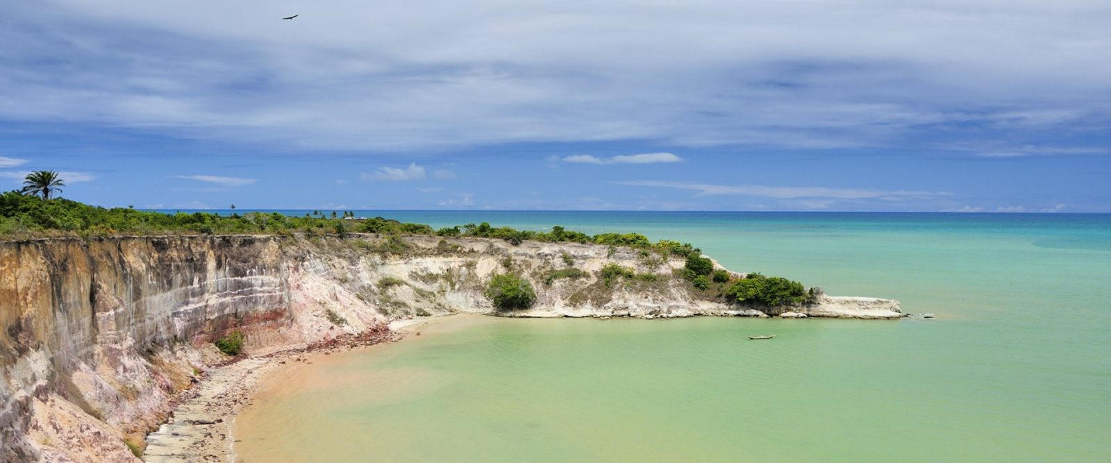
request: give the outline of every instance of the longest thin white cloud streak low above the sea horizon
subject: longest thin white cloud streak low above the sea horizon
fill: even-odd
[[[823,187],[768,187],[768,185],[719,185],[697,182],[669,182],[669,181],[619,181],[613,182],[628,187],[660,187],[674,188],[680,190],[693,190],[699,194],[720,195],[735,194],[744,197],[762,197],[774,199],[799,199],[799,198],[829,198],[841,200],[879,199],[884,201],[902,201],[907,199],[947,197],[951,193],[937,191],[911,191],[911,190],[871,190],[858,188],[823,188]],[[829,204],[827,204],[829,205]]]

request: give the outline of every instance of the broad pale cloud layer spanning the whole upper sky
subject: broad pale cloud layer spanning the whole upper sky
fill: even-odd
[[[1109,117],[1092,0],[9,3],[0,118],[283,149],[890,147]]]

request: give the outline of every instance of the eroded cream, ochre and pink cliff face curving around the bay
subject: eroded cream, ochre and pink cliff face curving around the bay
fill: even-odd
[[[607,263],[654,278],[605,284]],[[126,461],[166,421],[173,394],[226,360],[238,330],[251,354],[301,348],[390,320],[494,312],[482,294],[513,271],[537,289],[514,316],[699,314],[898,318],[898,302],[730,306],[673,275],[682,260],[574,243],[374,235],[121,236],[0,243],[0,456]],[[575,268],[580,278],[550,278]]]

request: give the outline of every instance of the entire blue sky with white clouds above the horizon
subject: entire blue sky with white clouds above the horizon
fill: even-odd
[[[1107,0],[10,3],[2,190],[48,169],[144,209],[1111,212]]]

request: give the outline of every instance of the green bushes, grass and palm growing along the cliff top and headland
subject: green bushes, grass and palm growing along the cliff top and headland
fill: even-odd
[[[552,227],[551,231],[516,230],[509,227],[492,227],[487,222],[468,223],[459,227],[433,230],[421,223],[403,223],[384,218],[354,220],[353,212],[344,212],[343,219],[314,211],[303,217],[283,215],[277,212],[249,212],[221,215],[209,212],[162,213],[141,211],[132,208],[106,209],[83,204],[67,199],[50,199],[50,192],[56,192],[54,183],[59,179],[36,178],[34,188],[29,184],[26,194],[21,191],[9,191],[0,194],[0,238],[19,239],[33,236],[107,236],[113,234],[230,234],[230,233],[274,233],[289,234],[301,232],[308,235],[331,234],[344,238],[350,232],[379,233],[389,236],[383,251],[403,253],[409,246],[399,235],[420,234],[439,236],[474,236],[506,240],[520,244],[526,240],[543,242],[574,242],[615,246],[628,246],[641,250],[642,255],[674,255],[687,258],[680,275],[688,280],[691,286],[707,296],[720,298],[741,304],[785,305],[808,302],[812,295],[807,293],[802,284],[777,276],[750,275],[747,279],[733,279],[723,270],[714,270],[713,261],[702,256],[699,249],[689,243],[661,240],[652,243],[640,233],[600,233],[590,235],[582,232]],[[32,179],[29,177],[29,182]],[[54,187],[48,187],[54,184]],[[41,188],[40,188],[41,187]],[[367,244],[370,245],[370,244]],[[561,255],[564,264],[571,266],[574,259],[570,254]],[[569,268],[553,271],[546,275],[544,283],[551,284],[557,279],[581,279],[585,272]],[[600,279],[605,286],[611,286],[621,279],[648,280],[654,279],[652,273],[635,273],[632,269],[617,264],[607,265],[600,272]],[[381,282],[380,282],[381,283]],[[388,285],[388,284],[384,284]],[[536,300],[532,285],[520,276],[504,274],[496,276],[488,286],[488,296],[494,304],[504,310],[528,308]],[[221,340],[224,341],[224,340]],[[233,340],[228,340],[233,341]],[[240,340],[241,343],[241,340]]]

